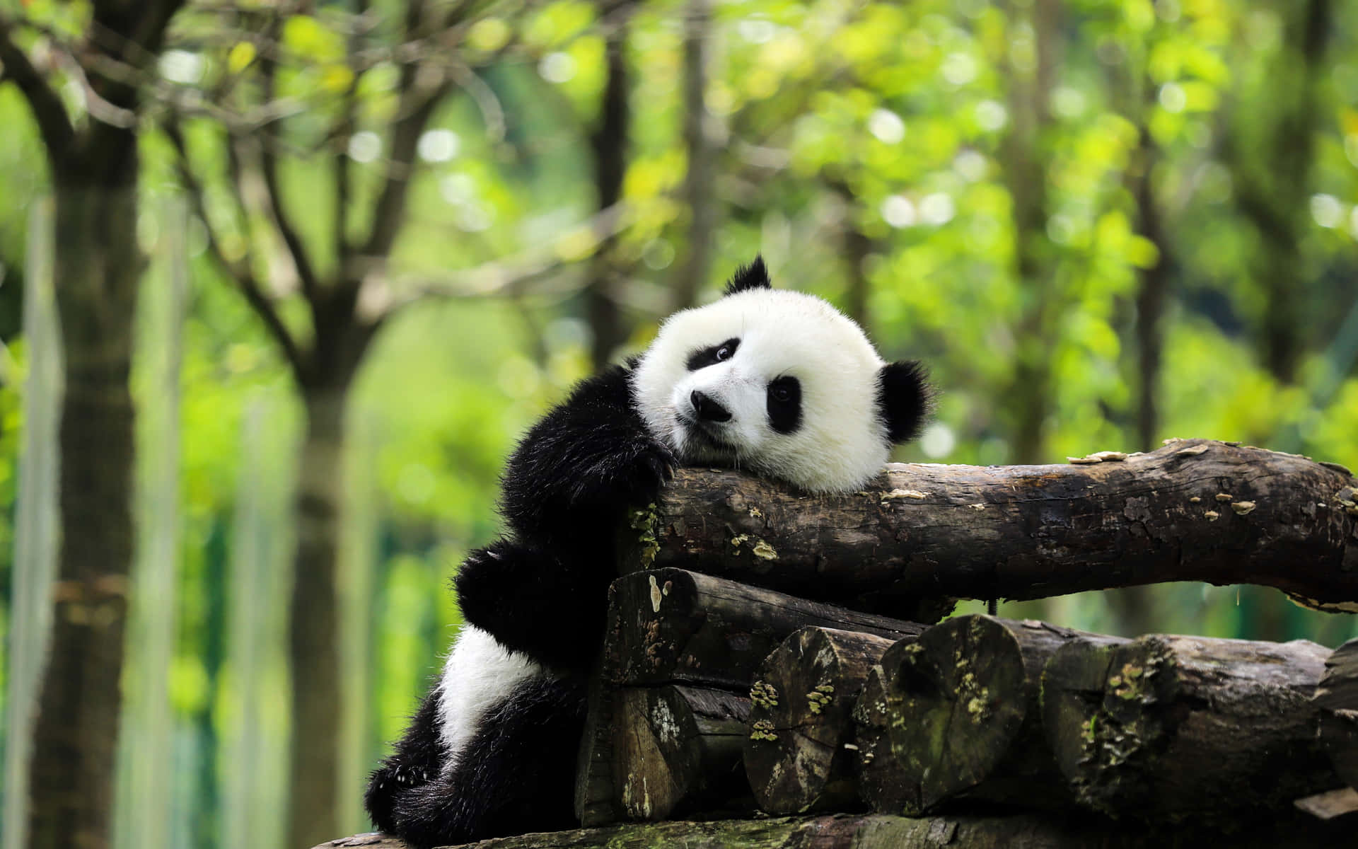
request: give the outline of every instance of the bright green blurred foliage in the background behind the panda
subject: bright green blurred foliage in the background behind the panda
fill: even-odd
[[[259,118],[268,106],[265,7],[243,7],[239,16],[187,8],[175,23],[178,53],[162,62],[158,80],[181,106],[193,92],[238,120],[259,121],[261,137],[277,145],[284,205],[323,269],[335,262],[335,216],[345,216],[353,239],[372,224],[372,198],[388,177],[390,128],[407,107],[397,53],[403,4],[373,5],[380,14],[367,29],[354,29],[334,4],[284,16],[278,45],[269,46],[278,50],[269,56],[278,62],[282,121]],[[1145,402],[1138,302],[1148,272],[1168,269],[1153,441],[1211,436],[1358,467],[1358,321],[1346,323],[1358,317],[1358,12],[1332,4],[1325,49],[1308,56],[1297,50],[1301,5],[1081,0],[1061,4],[1052,35],[1032,4],[716,3],[706,103],[718,225],[705,296],[755,251],[777,285],[846,307],[861,276],[858,318],[887,356],[923,359],[941,390],[934,424],[900,459],[1061,462],[1150,447],[1137,435]],[[411,280],[524,255],[546,253],[568,265],[496,299],[407,308],[383,327],[352,391],[356,436],[345,460],[368,488],[354,518],[367,530],[346,542],[346,557],[369,581],[353,585],[371,587],[368,615],[356,625],[371,637],[361,670],[373,694],[365,761],[395,736],[437,668],[458,622],[447,576],[500,530],[494,500],[505,456],[588,369],[591,327],[580,296],[588,280],[579,261],[595,245],[583,227],[596,211],[591,139],[607,80],[606,39],[619,22],[600,20],[596,5],[580,0],[474,7],[424,45],[447,60],[451,83],[409,174],[395,293],[413,292]],[[619,269],[633,346],[653,333],[690,250],[680,196],[684,8],[642,4],[626,30],[626,217],[610,262]],[[26,14],[73,33],[88,11],[34,0]],[[26,31],[22,43],[43,38]],[[356,45],[365,50],[357,64]],[[350,102],[353,126],[341,143],[335,121]],[[1305,103],[1313,113],[1302,121]],[[94,120],[77,96],[68,107],[76,120]],[[194,115],[185,136],[223,253],[235,261],[254,249],[254,273],[285,295],[282,321],[307,338],[311,317],[269,235],[269,211],[242,211],[232,200],[220,113]],[[3,310],[45,164],[12,86],[0,86],[0,126],[10,201],[0,209]],[[164,215],[156,211],[179,187],[172,147],[147,126],[143,190],[152,212],[143,230],[155,251],[156,234],[177,225],[156,220]],[[1293,153],[1304,167],[1283,162]],[[335,162],[350,168],[346,209],[335,208]],[[1143,178],[1158,234],[1146,227]],[[1258,198],[1262,211],[1251,206]],[[1270,216],[1283,223],[1282,242],[1267,232]],[[276,459],[263,473],[287,490],[300,410],[280,352],[212,262],[202,223],[186,227],[185,528],[170,682],[183,728],[197,729],[196,746],[216,751],[240,709],[231,687],[249,674],[232,667],[238,647],[228,644],[228,611],[251,603],[227,592],[243,545],[232,528],[242,503],[261,494],[243,482],[242,458],[249,439],[266,441],[265,455]],[[862,254],[853,246],[865,246]],[[1289,283],[1283,296],[1271,285],[1279,274]],[[1300,350],[1293,376],[1266,356],[1266,326],[1279,307],[1291,310]],[[0,321],[8,333],[8,317]],[[22,363],[22,344],[11,353]],[[247,439],[251,410],[261,409],[265,436]],[[0,393],[0,543],[8,542],[15,497],[16,416],[12,389]],[[277,493],[269,499],[287,504]],[[287,511],[266,516],[265,528],[282,545]],[[285,558],[277,562],[281,569]],[[7,573],[7,556],[0,568]],[[1354,630],[1350,619],[1294,609],[1271,591],[1175,585],[1146,598],[1143,613],[1158,630],[1329,644]],[[1119,604],[1089,594],[1002,611],[1119,630],[1131,621]],[[268,681],[278,675],[274,655]],[[208,777],[194,787],[227,772],[208,755],[201,762]]]

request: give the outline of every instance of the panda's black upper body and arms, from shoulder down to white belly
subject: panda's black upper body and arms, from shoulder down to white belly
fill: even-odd
[[[463,618],[554,668],[585,670],[617,575],[615,528],[648,504],[675,463],[633,408],[627,371],[583,382],[519,444],[501,511],[512,534],[463,561]]]

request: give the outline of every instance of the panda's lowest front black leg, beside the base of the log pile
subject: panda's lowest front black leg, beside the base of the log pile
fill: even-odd
[[[492,709],[449,776],[403,792],[397,835],[411,849],[554,831],[576,823],[581,679],[534,678]]]

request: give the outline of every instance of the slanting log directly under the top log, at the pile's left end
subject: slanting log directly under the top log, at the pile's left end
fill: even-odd
[[[899,640],[923,625],[809,602],[721,577],[655,569],[608,591],[604,678],[612,685],[683,682],[744,693],[765,657],[813,625]]]

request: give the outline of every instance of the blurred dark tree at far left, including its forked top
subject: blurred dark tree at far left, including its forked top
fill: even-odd
[[[35,848],[109,842],[133,545],[139,82],[181,3],[31,4],[27,18],[0,18],[0,80],[41,132],[60,246],[61,553],[29,782]],[[69,84],[76,109],[58,95]]]

